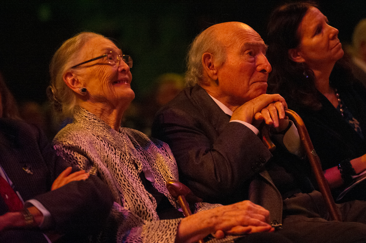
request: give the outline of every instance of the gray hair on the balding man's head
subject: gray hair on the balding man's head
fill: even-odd
[[[211,53],[220,65],[225,62],[225,46],[216,37],[215,28],[212,26],[197,35],[190,45],[187,55],[186,86],[194,86],[202,81],[203,67],[201,59],[205,52]]]

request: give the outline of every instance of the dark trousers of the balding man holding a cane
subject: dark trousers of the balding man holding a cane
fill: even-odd
[[[343,222],[328,221],[321,194],[299,194],[284,200],[282,229],[277,233],[296,243],[366,242],[366,201],[337,204]]]

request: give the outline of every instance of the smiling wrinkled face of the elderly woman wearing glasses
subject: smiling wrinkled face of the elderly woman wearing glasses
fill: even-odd
[[[78,61],[83,62],[111,51],[122,56],[122,51],[112,41],[94,37],[82,47]],[[77,74],[79,82],[87,90],[90,102],[115,108],[121,102],[129,104],[135,97],[130,86],[130,68],[122,60],[114,65],[109,64],[106,58],[88,62],[78,67]]]

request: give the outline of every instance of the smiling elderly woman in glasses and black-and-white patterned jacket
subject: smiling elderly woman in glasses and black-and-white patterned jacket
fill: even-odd
[[[250,201],[221,207],[196,204],[200,212],[182,219],[165,186],[178,180],[168,145],[120,126],[134,99],[131,67],[131,57],[112,41],[88,32],[64,42],[50,65],[55,107],[74,117],[56,135],[54,147],[108,184],[117,202],[117,242],[196,242],[212,232],[219,238],[228,235],[222,242],[246,233],[239,240],[289,242],[272,232],[269,212]]]

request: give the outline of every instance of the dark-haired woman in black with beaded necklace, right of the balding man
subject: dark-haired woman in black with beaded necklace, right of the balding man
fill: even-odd
[[[337,35],[309,2],[277,8],[268,24],[270,92],[302,117],[335,197],[366,169],[366,91],[340,65]],[[366,199],[358,187],[348,200]]]

